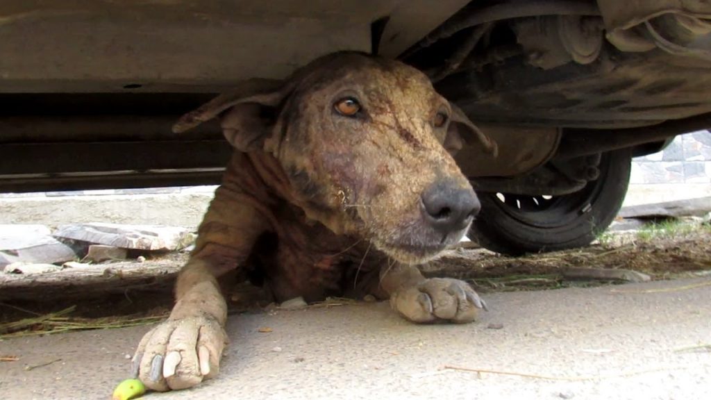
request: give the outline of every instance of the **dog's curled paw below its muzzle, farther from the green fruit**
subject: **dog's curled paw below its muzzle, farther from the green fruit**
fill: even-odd
[[[449,278],[427,279],[390,296],[390,305],[412,322],[471,322],[486,303],[466,282]]]

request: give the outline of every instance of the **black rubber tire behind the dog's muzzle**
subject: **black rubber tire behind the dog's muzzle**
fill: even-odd
[[[630,149],[602,154],[597,180],[575,193],[545,200],[543,207],[536,203],[539,209],[521,210],[501,201],[496,193],[480,192],[481,212],[468,236],[483,248],[510,256],[587,246],[612,223],[622,206],[631,159]],[[527,196],[513,197],[525,200]],[[584,212],[587,204],[589,210]]]

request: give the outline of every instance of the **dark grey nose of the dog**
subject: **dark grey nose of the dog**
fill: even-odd
[[[481,204],[471,187],[455,181],[439,181],[422,193],[424,218],[437,231],[447,234],[469,226]]]

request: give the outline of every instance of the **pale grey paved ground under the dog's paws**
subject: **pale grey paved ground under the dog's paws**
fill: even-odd
[[[233,315],[218,379],[147,399],[711,399],[711,352],[678,351],[711,343],[708,277],[483,297],[470,325],[412,325],[387,303]],[[148,329],[0,342],[20,357],[0,362],[0,393],[108,399]]]

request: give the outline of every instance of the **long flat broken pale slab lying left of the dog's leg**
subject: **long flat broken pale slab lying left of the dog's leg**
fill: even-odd
[[[195,241],[196,235],[179,226],[80,223],[60,226],[58,238],[147,251],[176,251]]]

